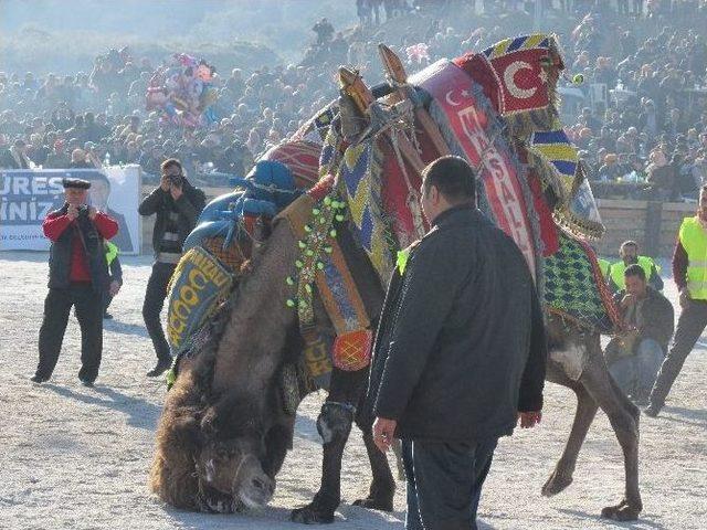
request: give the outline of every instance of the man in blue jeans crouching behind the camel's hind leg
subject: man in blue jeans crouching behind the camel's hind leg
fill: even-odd
[[[614,300],[626,332],[609,342],[604,356],[621,390],[645,405],[673,336],[675,317],[671,301],[646,284],[641,265],[629,265],[624,282],[625,288]]]

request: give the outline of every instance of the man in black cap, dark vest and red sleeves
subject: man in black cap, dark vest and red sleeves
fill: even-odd
[[[49,259],[49,294],[40,328],[40,362],[32,378],[43,383],[52,377],[68,314],[76,308],[81,326],[81,371],[78,379],[93,386],[98,375],[103,350],[103,296],[108,288],[104,241],[118,232],[118,224],[86,204],[91,183],[64,179],[66,202],[51,212],[42,223],[52,241]]]

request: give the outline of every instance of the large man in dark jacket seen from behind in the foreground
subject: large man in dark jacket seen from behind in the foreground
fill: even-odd
[[[443,157],[424,171],[431,230],[399,255],[367,404],[373,438],[402,438],[408,529],[476,528],[498,437],[540,421],[547,346],[532,278],[475,204],[475,174]]]

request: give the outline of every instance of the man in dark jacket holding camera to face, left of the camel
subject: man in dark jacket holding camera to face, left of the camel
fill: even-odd
[[[169,278],[181,257],[184,240],[197,224],[207,201],[203,191],[189,183],[179,160],[167,159],[160,169],[162,176],[159,187],[138,208],[140,215],[157,214],[152,230],[155,263],[143,304],[145,326],[157,353],[157,365],[147,372],[150,378],[160,375],[171,364],[159,314],[167,297]]]

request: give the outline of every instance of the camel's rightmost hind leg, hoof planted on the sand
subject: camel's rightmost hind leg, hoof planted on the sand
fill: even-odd
[[[639,491],[640,412],[623,395],[603,362],[590,363],[582,373],[580,382],[609,417],[624,457],[626,481],[624,499],[616,506],[604,508],[602,517],[618,521],[635,520],[643,509]]]

